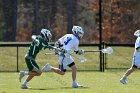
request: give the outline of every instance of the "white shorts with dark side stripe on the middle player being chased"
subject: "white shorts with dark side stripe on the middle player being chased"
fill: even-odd
[[[59,63],[60,66],[63,67],[63,69],[67,69],[67,66],[70,65],[73,62],[74,62],[74,60],[70,55],[69,56],[58,55],[58,63]]]

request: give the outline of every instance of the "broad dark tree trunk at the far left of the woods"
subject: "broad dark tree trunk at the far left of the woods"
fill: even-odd
[[[17,0],[3,0],[2,3],[6,28],[6,31],[4,32],[4,41],[15,41],[17,23]]]

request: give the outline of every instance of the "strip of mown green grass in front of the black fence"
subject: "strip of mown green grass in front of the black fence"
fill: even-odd
[[[0,93],[139,93],[140,73],[136,71],[127,85],[119,82],[124,71],[78,72],[77,81],[82,88],[71,88],[71,72],[60,76],[52,72],[43,73],[29,82],[31,89],[20,89],[18,73],[0,73]],[[25,77],[26,78],[26,77]],[[25,79],[23,78],[23,79]]]

